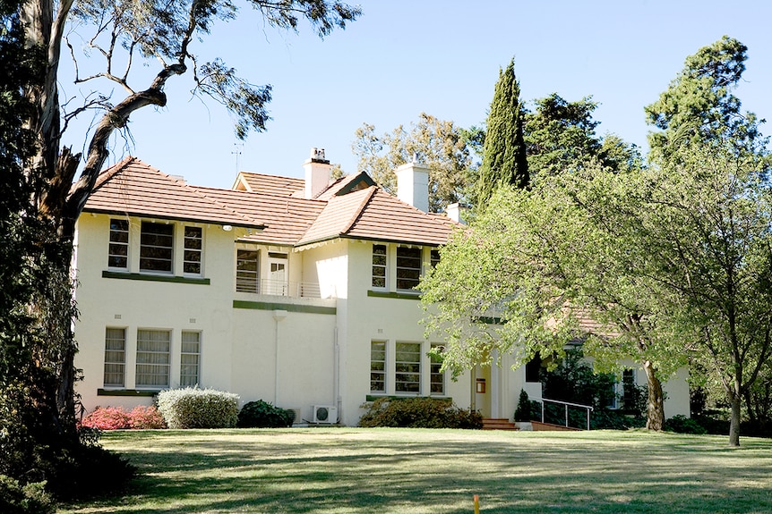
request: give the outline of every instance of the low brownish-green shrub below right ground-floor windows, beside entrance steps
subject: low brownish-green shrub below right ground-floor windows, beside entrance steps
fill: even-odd
[[[359,426],[409,428],[482,428],[479,412],[459,409],[448,400],[435,398],[381,398],[365,403],[368,409]]]

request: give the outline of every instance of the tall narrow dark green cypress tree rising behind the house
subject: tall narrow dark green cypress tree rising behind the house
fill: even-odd
[[[520,85],[515,79],[515,60],[499,70],[488,114],[483,164],[477,182],[477,207],[485,206],[493,191],[504,184],[528,186],[528,160],[523,140],[525,108],[520,102]]]

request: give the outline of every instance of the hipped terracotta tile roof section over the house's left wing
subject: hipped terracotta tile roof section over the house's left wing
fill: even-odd
[[[126,157],[99,175],[83,210],[262,228],[255,218],[135,157]]]

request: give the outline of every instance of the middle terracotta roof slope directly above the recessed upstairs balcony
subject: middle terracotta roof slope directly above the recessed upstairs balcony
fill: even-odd
[[[244,238],[276,245],[294,245],[327,205],[318,200],[266,195],[249,191],[198,188],[204,195],[265,224],[262,232]]]

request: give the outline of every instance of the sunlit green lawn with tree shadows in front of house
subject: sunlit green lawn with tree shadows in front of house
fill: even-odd
[[[142,476],[60,513],[772,512],[772,441],[647,432],[126,431]]]

